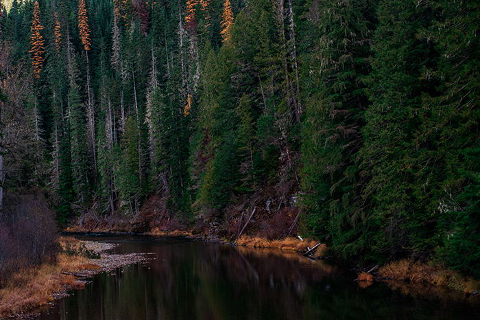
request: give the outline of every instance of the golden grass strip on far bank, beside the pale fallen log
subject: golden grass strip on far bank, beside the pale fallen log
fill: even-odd
[[[237,240],[237,244],[241,246],[250,246],[255,248],[278,248],[283,250],[293,250],[293,251],[307,251],[308,248],[315,247],[315,240],[300,240],[298,238],[285,238],[283,240],[267,240],[265,238],[259,237],[250,237],[250,236],[241,236]],[[324,255],[326,251],[325,244],[320,244],[320,246],[315,249],[313,256],[320,257]]]

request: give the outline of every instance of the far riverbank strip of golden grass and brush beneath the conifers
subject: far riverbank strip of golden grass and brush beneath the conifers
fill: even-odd
[[[250,222],[250,230],[253,230],[253,232],[250,231],[236,239],[235,236],[232,236],[231,230],[236,229],[239,226],[239,222],[233,223],[232,221],[235,221],[235,218],[232,218],[232,216],[230,216],[230,220],[224,222],[224,225],[234,226],[230,228],[218,227],[218,224],[215,221],[206,223],[200,227],[196,226],[188,228],[174,220],[174,218],[169,220],[168,223],[165,223],[166,219],[164,218],[162,227],[158,227],[158,221],[155,222],[155,220],[149,220],[149,222],[153,221],[152,225],[154,225],[154,227],[149,229],[148,223],[145,222],[145,217],[142,215],[130,219],[109,219],[110,220],[106,221],[100,220],[100,222],[96,224],[97,226],[93,229],[88,229],[88,225],[73,225],[68,231],[101,232],[115,230],[121,233],[139,230],[139,226],[142,226],[140,229],[144,230],[141,232],[143,234],[155,236],[187,236],[211,242],[224,242],[230,244],[235,242],[240,246],[283,249],[297,251],[299,253],[307,252],[318,243],[317,240],[300,240],[300,238],[294,236],[283,237],[279,240],[269,240],[267,237],[261,236],[261,232],[259,232],[260,228],[258,227],[258,220],[253,223]],[[107,225],[108,229],[102,230],[98,227],[99,225]],[[317,250],[312,252],[311,258],[323,258],[327,254],[328,248],[325,244],[321,244]],[[350,267],[355,268],[355,262],[352,262]],[[409,291],[406,287],[410,285],[438,286],[447,288],[448,290],[457,290],[466,295],[473,295],[475,292],[480,292],[479,280],[462,275],[457,271],[451,271],[446,268],[446,266],[432,261],[421,262],[419,260],[407,258],[403,260],[394,260],[383,266],[375,266],[373,270],[372,267],[374,267],[374,265],[357,268],[359,275],[364,274],[362,277],[365,277],[366,279],[365,282],[361,282],[362,286],[372,284],[374,279],[387,279],[392,288],[402,288],[405,293]]]

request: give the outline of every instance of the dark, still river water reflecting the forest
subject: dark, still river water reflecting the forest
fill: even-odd
[[[95,276],[40,319],[480,319],[479,298],[359,285],[355,274],[296,253],[185,238],[81,239],[152,260]]]

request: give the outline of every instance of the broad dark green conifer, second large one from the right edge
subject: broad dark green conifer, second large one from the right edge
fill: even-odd
[[[420,36],[436,14],[427,2],[400,0],[381,1],[377,14],[372,104],[360,152],[361,174],[369,177],[362,217],[370,236],[362,236],[359,245],[392,255],[426,250],[437,237],[437,205],[431,199],[439,192],[442,165],[437,133],[425,126],[432,112],[422,100],[437,95],[438,87],[422,72],[435,66],[438,54],[434,43]]]

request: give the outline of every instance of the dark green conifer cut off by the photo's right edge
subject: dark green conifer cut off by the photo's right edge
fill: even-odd
[[[436,250],[448,266],[480,277],[480,5],[430,4],[443,17],[421,33],[436,43],[440,56],[436,67],[424,69],[424,78],[434,78],[442,88],[440,95],[424,96],[425,108],[432,110],[425,127],[439,135],[435,146],[443,157],[437,157],[442,162],[436,165],[446,172],[440,175],[441,192],[432,199],[440,211],[438,236],[443,242]]]

